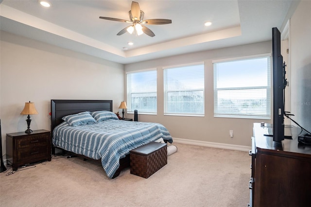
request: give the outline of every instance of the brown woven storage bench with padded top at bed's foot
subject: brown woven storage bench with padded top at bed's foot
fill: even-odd
[[[131,174],[148,178],[166,164],[166,143],[150,142],[130,151]]]

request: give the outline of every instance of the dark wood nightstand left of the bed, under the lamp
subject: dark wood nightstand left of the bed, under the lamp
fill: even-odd
[[[6,158],[13,169],[47,159],[51,161],[51,131],[34,130],[31,134],[6,134]]]

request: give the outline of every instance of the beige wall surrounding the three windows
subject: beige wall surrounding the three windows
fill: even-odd
[[[272,42],[260,42],[212,51],[196,52],[125,65],[125,71],[157,68],[157,115],[139,115],[139,121],[155,121],[165,125],[174,138],[205,142],[251,146],[254,122],[271,120],[214,118],[213,64],[212,60],[241,57],[272,52]],[[163,115],[162,67],[194,62],[205,62],[205,117],[182,117]],[[229,136],[233,130],[233,138]]]

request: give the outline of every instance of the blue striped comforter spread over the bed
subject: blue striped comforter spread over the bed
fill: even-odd
[[[75,154],[101,159],[104,171],[112,178],[120,166],[119,159],[159,138],[173,142],[168,130],[159,123],[107,120],[73,127],[64,121],[53,130],[52,142]]]

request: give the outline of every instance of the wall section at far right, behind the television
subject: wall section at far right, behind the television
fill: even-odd
[[[290,20],[292,117],[311,132],[311,1],[302,0]]]

